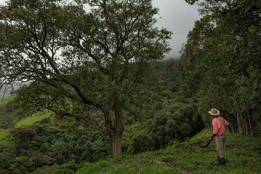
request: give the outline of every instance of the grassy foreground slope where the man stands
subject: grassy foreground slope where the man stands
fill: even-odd
[[[199,135],[206,137],[211,130],[203,130]],[[181,174],[181,173],[261,173],[261,139],[247,137],[240,133],[228,134],[225,145],[227,164],[216,167],[215,142],[208,148],[197,146],[199,135],[190,141],[175,144],[167,149],[136,155],[122,155],[113,160],[101,160],[94,164],[85,164],[77,174]],[[204,144],[204,142],[202,143]]]

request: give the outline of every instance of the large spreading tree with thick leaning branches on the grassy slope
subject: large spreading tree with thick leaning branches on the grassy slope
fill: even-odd
[[[85,4],[90,10],[85,11]],[[152,62],[170,51],[152,0],[11,0],[0,11],[0,87],[28,81],[16,104],[84,120],[122,154],[123,110],[151,89]],[[92,109],[103,112],[96,120]]]

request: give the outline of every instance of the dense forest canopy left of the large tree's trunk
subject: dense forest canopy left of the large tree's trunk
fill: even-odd
[[[76,161],[93,162],[112,154],[108,141],[80,124],[46,117],[32,125],[7,129],[11,137],[0,147],[0,171],[74,173],[79,166]]]

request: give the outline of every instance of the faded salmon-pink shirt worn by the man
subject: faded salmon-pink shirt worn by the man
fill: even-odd
[[[217,134],[218,136],[224,135],[226,133],[225,125],[229,125],[229,123],[222,117],[213,118],[212,126],[213,126],[213,134]]]

